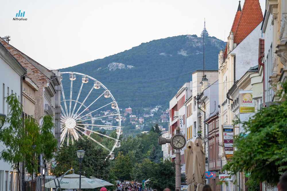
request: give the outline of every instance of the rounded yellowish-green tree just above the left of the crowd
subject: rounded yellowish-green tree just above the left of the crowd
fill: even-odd
[[[115,158],[116,164],[112,168],[115,176],[119,179],[131,180],[131,173],[133,164],[131,163],[128,155],[123,155],[123,152],[119,152],[117,158]]]

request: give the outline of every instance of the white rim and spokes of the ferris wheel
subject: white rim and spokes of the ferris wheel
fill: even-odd
[[[106,86],[104,86],[104,84],[102,84],[100,81],[96,80],[95,78],[93,78],[93,77],[91,77],[91,76],[88,76],[88,75],[86,75],[86,74],[82,74],[82,73],[79,73],[79,72],[61,72],[61,74],[78,74],[78,75],[81,75],[81,77],[83,77],[83,76],[88,77],[88,78],[94,80],[95,82],[99,82],[100,85],[105,89],[105,91],[104,91],[95,101],[93,101],[89,106],[86,106],[86,105],[84,105],[84,102],[85,102],[86,99],[89,97],[90,93],[91,93],[92,90],[94,89],[94,86],[92,87],[92,89],[90,90],[90,92],[88,93],[88,95],[86,96],[86,98],[84,99],[83,103],[81,103],[81,102],[78,101],[78,99],[79,99],[79,95],[80,95],[80,93],[81,93],[81,91],[82,91],[82,87],[83,87],[84,82],[82,82],[81,88],[80,88],[79,93],[78,93],[78,96],[77,96],[77,100],[73,100],[73,99],[72,99],[73,80],[71,80],[71,86],[70,86],[70,99],[65,99],[64,89],[63,89],[63,85],[62,85],[62,83],[61,83],[62,97],[63,97],[63,102],[64,102],[64,105],[65,105],[65,111],[66,111],[66,113],[65,113],[63,107],[61,106],[61,111],[62,111],[62,112],[61,112],[61,131],[62,131],[62,133],[61,133],[61,143],[62,143],[62,141],[65,139],[65,137],[67,136],[67,137],[68,137],[68,142],[67,142],[67,144],[69,144],[69,137],[71,137],[71,141],[72,141],[72,144],[73,144],[73,143],[74,143],[73,137],[74,137],[76,140],[79,139],[79,138],[82,138],[82,136],[77,132],[77,131],[79,131],[80,133],[86,135],[88,138],[92,139],[94,142],[98,143],[98,144],[99,144],[100,146],[102,146],[104,149],[106,149],[107,151],[109,151],[108,156],[112,155],[114,149],[117,147],[117,143],[119,142],[119,136],[120,136],[120,134],[121,134],[120,132],[121,132],[121,129],[122,129],[122,127],[121,127],[121,115],[120,115],[119,107],[118,107],[118,104],[117,104],[115,98],[114,98],[113,95],[110,93],[110,91],[108,90],[108,88],[106,88]],[[108,104],[106,104],[106,105],[104,105],[104,106],[102,106],[102,107],[100,107],[100,108],[98,108],[98,109],[96,109],[96,110],[94,110],[94,111],[92,111],[92,112],[90,112],[90,113],[88,113],[88,114],[82,116],[82,117],[79,117],[84,111],[86,111],[86,109],[88,109],[93,103],[95,103],[105,92],[109,92],[110,97],[113,99],[112,102],[110,102],[110,103],[108,103]],[[68,111],[68,108],[67,108],[67,103],[66,103],[67,101],[69,101],[69,111]],[[72,101],[75,102],[75,105],[74,105],[73,110],[71,110],[71,103],[72,103]],[[61,101],[61,102],[62,102],[62,101]],[[81,104],[81,106],[80,106],[80,107],[77,109],[77,111],[75,112],[75,108],[76,108],[77,103]],[[90,137],[90,135],[87,135],[86,133],[84,133],[84,131],[82,131],[82,129],[85,129],[85,128],[80,127],[80,126],[78,126],[78,125],[75,125],[75,127],[72,128],[72,130],[70,130],[70,129],[68,129],[68,128],[66,127],[66,125],[65,125],[65,121],[66,121],[67,119],[69,119],[69,118],[75,119],[76,122],[86,121],[86,120],[83,120],[82,118],[85,117],[85,116],[91,115],[93,112],[95,112],[95,111],[97,111],[97,110],[99,110],[99,109],[101,109],[101,108],[103,108],[103,107],[105,107],[105,106],[107,106],[107,105],[110,105],[110,104],[112,104],[112,103],[114,103],[115,106],[116,106],[117,114],[107,115],[107,116],[105,116],[105,117],[108,117],[108,116],[118,116],[118,117],[119,117],[119,121],[118,121],[118,122],[119,122],[119,126],[107,126],[107,125],[95,125],[95,124],[93,124],[93,123],[94,123],[93,121],[94,121],[95,119],[98,119],[98,118],[101,118],[101,117],[93,117],[93,118],[91,118],[91,119],[86,119],[86,120],[92,120],[92,119],[94,119],[94,120],[92,120],[92,124],[84,124],[84,123],[83,123],[83,125],[91,125],[92,127],[93,127],[93,126],[116,127],[116,129],[119,129],[119,133],[117,133],[117,138],[116,138],[116,139],[113,138],[113,137],[110,137],[110,136],[108,136],[108,135],[104,135],[104,134],[98,133],[98,132],[96,132],[96,131],[89,130],[89,131],[91,131],[91,132],[93,132],[93,133],[96,133],[96,134],[98,134],[98,135],[102,135],[102,136],[104,136],[104,137],[113,139],[115,143],[114,143],[114,146],[113,146],[113,148],[112,148],[111,150],[108,149],[107,147],[105,147],[104,145],[102,145],[101,143],[99,143],[98,141],[96,141],[95,139],[93,139],[92,137]],[[77,115],[78,111],[81,109],[82,106],[84,106],[85,109],[84,109],[81,113],[79,113],[79,114]],[[72,112],[71,112],[71,111],[72,111]],[[77,121],[77,120],[80,120],[80,121]],[[77,131],[76,131],[76,130],[77,130]],[[68,135],[67,135],[67,134],[68,134]],[[106,157],[106,159],[108,158],[108,156]],[[105,159],[105,160],[106,160],[106,159]]]

